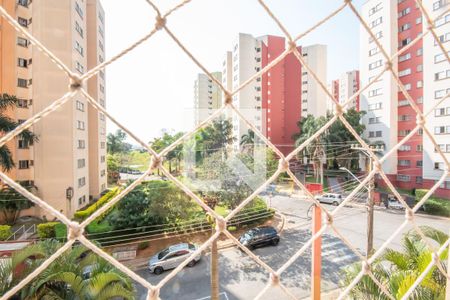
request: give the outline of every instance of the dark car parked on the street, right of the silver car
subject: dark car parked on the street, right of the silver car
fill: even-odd
[[[280,242],[280,236],[275,228],[270,226],[250,229],[239,237],[239,242],[249,249],[266,245],[276,246]]]

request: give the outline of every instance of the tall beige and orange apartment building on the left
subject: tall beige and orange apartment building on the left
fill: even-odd
[[[74,72],[81,75],[104,60],[104,12],[98,0],[0,4]],[[3,19],[0,39],[0,93],[20,99],[11,117],[26,120],[67,92],[67,75]],[[85,87],[103,106],[104,78],[102,72]],[[34,145],[17,139],[10,143],[16,168],[9,175],[34,184],[39,197],[72,216],[106,189],[105,117],[79,94],[32,130],[39,138]],[[34,207],[24,214],[46,212]]]

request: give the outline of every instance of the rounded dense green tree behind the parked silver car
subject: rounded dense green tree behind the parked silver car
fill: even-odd
[[[170,181],[143,182],[118,204],[108,217],[114,228],[133,228],[188,220],[195,210],[193,201]]]

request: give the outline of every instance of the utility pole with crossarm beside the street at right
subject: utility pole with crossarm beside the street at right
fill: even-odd
[[[358,147],[357,145],[352,145],[351,149],[360,150],[364,155],[367,156],[366,159],[366,173],[370,174],[373,168],[373,158],[363,147]],[[383,147],[373,147],[370,146],[370,150],[374,153],[382,152]],[[366,257],[369,258],[373,252],[373,207],[375,205],[373,199],[373,189],[374,189],[374,177],[369,180],[367,187],[367,245],[366,245]]]

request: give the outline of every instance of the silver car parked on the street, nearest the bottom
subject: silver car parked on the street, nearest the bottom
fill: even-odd
[[[172,245],[152,256],[148,262],[148,268],[150,272],[156,275],[161,274],[165,270],[174,269],[185,261],[197,248],[196,245],[188,243]],[[200,259],[201,255],[198,255],[187,266],[193,267]]]

